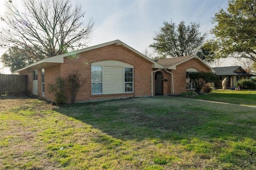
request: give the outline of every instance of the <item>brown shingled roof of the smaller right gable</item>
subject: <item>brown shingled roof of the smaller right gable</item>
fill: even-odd
[[[164,66],[164,68],[168,68],[170,70],[176,70],[176,66],[179,64],[182,64],[186,61],[189,61],[191,59],[197,59],[200,63],[204,64],[206,67],[209,68],[209,70],[212,70],[212,72],[215,72],[208,64],[206,64],[202,59],[200,59],[197,55],[188,55],[183,57],[174,57],[174,58],[167,58],[167,59],[159,59],[156,61],[157,63]]]

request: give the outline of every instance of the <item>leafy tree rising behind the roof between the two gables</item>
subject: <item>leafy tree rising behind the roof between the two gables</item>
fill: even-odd
[[[165,21],[150,47],[163,58],[193,55],[206,36],[207,33],[200,32],[200,23],[190,22],[190,25],[185,25],[185,22],[181,21],[176,25],[172,21]]]

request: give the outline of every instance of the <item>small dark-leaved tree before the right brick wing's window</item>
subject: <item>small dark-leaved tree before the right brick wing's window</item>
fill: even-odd
[[[202,88],[206,85],[206,83],[219,81],[219,77],[212,72],[190,72],[188,74],[188,77],[192,80],[197,80],[195,81],[195,92],[197,94],[200,94]]]

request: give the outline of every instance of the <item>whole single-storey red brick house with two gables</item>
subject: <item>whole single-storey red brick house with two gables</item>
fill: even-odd
[[[76,96],[77,102],[194,91],[186,72],[214,72],[197,56],[156,62],[120,40],[49,57],[16,72],[28,75],[30,95],[54,100],[49,84],[57,77],[67,82],[73,70],[78,70],[81,80],[86,81]],[[189,83],[191,86],[186,86]],[[67,102],[71,102],[68,84],[65,91]]]

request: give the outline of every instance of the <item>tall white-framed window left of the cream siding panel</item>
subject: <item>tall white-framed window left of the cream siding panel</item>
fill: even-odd
[[[102,94],[102,66],[92,66],[92,94]]]

